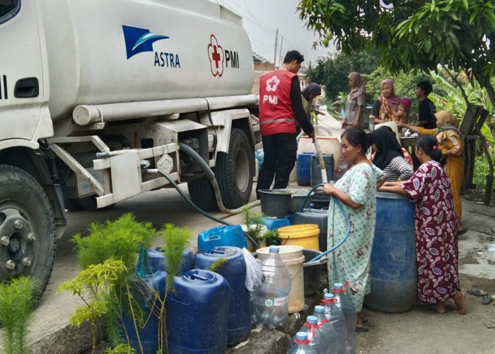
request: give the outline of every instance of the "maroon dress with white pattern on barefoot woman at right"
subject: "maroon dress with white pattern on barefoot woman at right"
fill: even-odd
[[[402,188],[416,203],[418,297],[437,304],[460,292],[458,219],[447,171],[436,161],[426,162]]]

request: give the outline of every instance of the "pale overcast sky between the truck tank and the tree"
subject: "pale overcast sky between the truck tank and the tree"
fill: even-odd
[[[298,50],[304,55],[304,66],[315,63],[318,57],[327,57],[331,47],[312,49],[316,40],[312,31],[305,28],[296,13],[298,0],[211,0],[243,17],[243,27],[249,35],[253,52],[279,65],[280,56],[288,50]],[[279,38],[275,56],[275,33]],[[282,39],[282,36],[284,37]],[[281,48],[280,48],[281,46]],[[280,54],[281,49],[281,54]]]

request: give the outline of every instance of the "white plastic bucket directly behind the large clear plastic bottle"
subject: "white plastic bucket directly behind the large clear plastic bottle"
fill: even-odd
[[[289,314],[304,309],[304,254],[301,246],[279,246],[279,255],[291,273],[291,292],[289,292]],[[257,249],[258,260],[267,258],[269,247]]]

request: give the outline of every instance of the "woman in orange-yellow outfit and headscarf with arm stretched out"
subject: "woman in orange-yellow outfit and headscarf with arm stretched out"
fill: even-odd
[[[450,185],[452,185],[452,193],[454,195],[455,214],[458,219],[462,216],[462,205],[460,202],[460,186],[462,176],[464,176],[464,158],[462,151],[462,133],[459,131],[459,121],[455,116],[447,110],[441,110],[435,113],[436,129],[426,129],[417,127],[416,125],[408,125],[397,123],[398,126],[406,127],[412,132],[417,132],[419,135],[436,135],[438,147],[442,152],[442,159],[445,160],[445,169],[447,169]],[[459,234],[464,234],[465,229],[459,227]]]

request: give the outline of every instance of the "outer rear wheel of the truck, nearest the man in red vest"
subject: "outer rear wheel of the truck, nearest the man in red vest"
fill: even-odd
[[[220,152],[215,167],[216,181],[227,209],[237,209],[249,202],[253,176],[255,151],[245,132],[233,128],[228,154]]]

